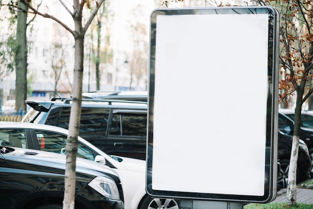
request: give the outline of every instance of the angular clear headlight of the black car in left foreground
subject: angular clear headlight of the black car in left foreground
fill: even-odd
[[[96,176],[88,185],[107,198],[119,199],[117,185],[114,180],[108,177]]]

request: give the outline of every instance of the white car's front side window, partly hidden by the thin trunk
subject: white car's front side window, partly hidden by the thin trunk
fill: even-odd
[[[66,135],[45,130],[34,131],[36,133],[40,150],[66,154]],[[78,142],[77,156],[85,159],[94,160],[93,151],[81,142]]]

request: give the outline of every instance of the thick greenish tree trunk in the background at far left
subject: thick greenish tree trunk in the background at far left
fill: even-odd
[[[27,5],[18,1],[19,8],[27,10]],[[27,99],[27,39],[26,24],[27,13],[17,12],[16,26],[16,53],[15,53],[15,111],[22,108],[26,111],[25,100]]]

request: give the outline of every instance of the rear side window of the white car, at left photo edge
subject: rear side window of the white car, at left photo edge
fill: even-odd
[[[0,145],[28,148],[24,129],[0,129]]]

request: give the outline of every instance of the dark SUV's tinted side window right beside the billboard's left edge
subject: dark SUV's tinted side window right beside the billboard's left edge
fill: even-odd
[[[146,114],[115,112],[113,113],[110,135],[146,135]]]

